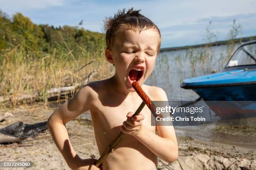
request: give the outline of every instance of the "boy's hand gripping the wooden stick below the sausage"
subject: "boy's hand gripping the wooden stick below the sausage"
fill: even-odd
[[[138,135],[141,132],[142,120],[144,120],[144,115],[132,116],[133,112],[128,112],[126,115],[127,119],[123,122],[121,126],[121,131],[129,135]]]

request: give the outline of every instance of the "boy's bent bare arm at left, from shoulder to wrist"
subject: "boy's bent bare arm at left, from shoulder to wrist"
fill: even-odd
[[[63,155],[67,165],[76,169],[82,163],[72,147],[65,124],[91,107],[92,93],[89,86],[81,88],[77,94],[65,102],[49,117],[47,126],[57,148]]]

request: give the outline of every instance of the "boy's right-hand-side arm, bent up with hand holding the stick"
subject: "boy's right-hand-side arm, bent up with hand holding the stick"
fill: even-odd
[[[157,88],[155,92],[158,96],[155,98],[156,101],[168,101],[164,90]],[[130,117],[130,115],[132,115],[132,113],[129,112],[128,117]],[[143,115],[138,115],[132,118],[133,122],[131,120],[126,120],[123,124],[124,128],[121,127],[121,130],[124,133],[133,135],[157,157],[169,163],[174,162],[178,158],[178,143],[173,126],[156,126],[156,130],[158,132],[158,135],[156,135],[148,130],[144,125],[141,125],[141,121],[143,119]],[[133,133],[132,131],[136,128],[131,127],[134,125],[137,127],[140,126],[136,133]]]

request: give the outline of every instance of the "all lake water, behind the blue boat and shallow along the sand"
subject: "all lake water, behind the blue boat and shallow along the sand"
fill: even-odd
[[[145,84],[157,86],[164,89],[169,101],[192,101],[199,96],[192,90],[184,90],[180,87],[182,80],[211,73],[212,70],[221,72],[225,67],[230,53],[237,49],[239,44],[230,50],[230,45],[213,47],[198,47],[188,50],[175,50],[160,52],[156,60],[154,71],[148,77]],[[205,112],[208,116],[209,112]],[[214,113],[213,113],[214,116]],[[90,112],[83,114],[90,119]],[[217,120],[217,119],[216,119]],[[252,120],[255,123],[255,119]],[[178,126],[174,127],[177,135],[189,136],[201,140],[217,140],[230,145],[241,145],[243,147],[256,148],[256,137],[244,136],[244,140],[237,141],[236,136],[227,135],[215,130],[216,123],[200,126]]]

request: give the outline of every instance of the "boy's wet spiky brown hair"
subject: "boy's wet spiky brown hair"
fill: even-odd
[[[142,30],[154,28],[159,32],[159,45],[157,47],[157,53],[161,46],[161,33],[157,26],[144,15],[139,12],[141,10],[128,9],[125,13],[125,8],[123,10],[118,10],[118,13],[114,17],[109,17],[104,20],[104,29],[106,31],[106,46],[110,49],[113,45],[113,41],[118,32],[125,30],[133,30],[134,32],[141,32]]]

